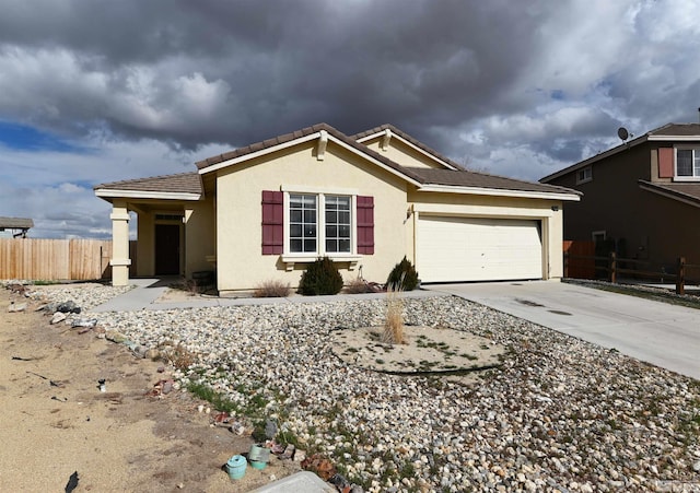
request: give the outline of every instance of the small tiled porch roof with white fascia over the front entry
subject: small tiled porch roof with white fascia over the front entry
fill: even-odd
[[[103,198],[128,197],[129,192],[140,192],[139,197],[143,198],[198,200],[202,195],[201,178],[196,172],[101,184],[94,190],[97,197]]]

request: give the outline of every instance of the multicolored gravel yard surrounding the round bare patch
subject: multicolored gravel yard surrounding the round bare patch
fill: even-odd
[[[121,291],[39,292],[85,309]],[[71,317],[195,354],[183,385],[276,420],[365,491],[700,491],[700,382],[452,296],[405,301],[405,320],[506,347],[477,384],[332,354],[331,331],[382,325],[385,310],[353,301]]]

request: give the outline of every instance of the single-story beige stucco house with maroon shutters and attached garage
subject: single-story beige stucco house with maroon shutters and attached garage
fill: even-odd
[[[197,163],[196,173],[95,187],[113,204],[113,282],[217,271],[220,292],[296,286],[328,256],[349,281],[384,282],[404,256],[423,282],[562,273],[573,190],[471,173],[390,125],[353,137],[319,124]]]

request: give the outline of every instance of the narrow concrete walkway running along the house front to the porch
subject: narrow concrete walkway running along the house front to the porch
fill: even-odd
[[[136,312],[141,309],[177,309],[199,308],[207,306],[235,306],[235,305],[271,305],[281,303],[324,303],[359,300],[384,300],[386,293],[365,294],[336,294],[329,296],[301,296],[292,294],[288,297],[218,297],[218,296],[188,296],[182,301],[159,302],[170,289],[173,282],[167,279],[131,279],[129,282],[136,287],[122,295],[98,305],[91,312]],[[401,297],[421,298],[439,296],[441,293],[433,291],[407,291]]]

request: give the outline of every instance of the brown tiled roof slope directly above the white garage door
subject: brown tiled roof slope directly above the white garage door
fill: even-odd
[[[446,185],[453,187],[491,188],[499,190],[539,191],[550,193],[576,193],[579,191],[553,185],[523,181],[503,176],[469,171],[411,168],[423,185]]]

